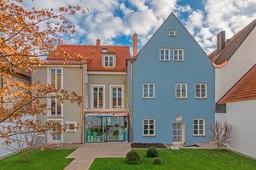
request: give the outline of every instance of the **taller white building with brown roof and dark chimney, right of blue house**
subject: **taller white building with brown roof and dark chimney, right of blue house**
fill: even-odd
[[[225,41],[225,32],[217,36],[217,49],[209,54],[215,66],[215,102],[256,63],[256,20]],[[217,105],[215,119],[224,121],[225,105]]]

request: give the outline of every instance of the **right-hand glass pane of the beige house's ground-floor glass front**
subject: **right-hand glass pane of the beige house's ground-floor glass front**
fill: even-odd
[[[107,117],[107,141],[125,140],[125,117]]]

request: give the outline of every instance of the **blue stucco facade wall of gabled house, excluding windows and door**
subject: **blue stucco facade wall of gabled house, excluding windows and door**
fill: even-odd
[[[176,37],[169,37],[176,30]],[[171,61],[160,61],[160,48],[170,48]],[[184,61],[173,61],[173,48],[183,48]],[[208,142],[214,122],[214,67],[195,40],[171,15],[133,62],[133,142],[172,144],[172,122],[185,123],[185,143]],[[143,82],[154,82],[154,99],[143,99]],[[188,83],[188,99],[176,99],[176,83]],[[207,99],[195,99],[195,83],[207,83]],[[155,137],[143,137],[143,118],[155,119]],[[206,135],[193,136],[193,119],[205,119]]]

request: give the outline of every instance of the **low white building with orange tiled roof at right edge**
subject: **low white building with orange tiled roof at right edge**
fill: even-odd
[[[256,65],[247,71],[217,105],[226,105],[224,121],[233,126],[228,148],[256,158]]]

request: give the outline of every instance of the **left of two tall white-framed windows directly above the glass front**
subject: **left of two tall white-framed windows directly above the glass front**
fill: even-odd
[[[91,86],[91,105],[92,109],[103,109],[104,108],[104,86]]]

